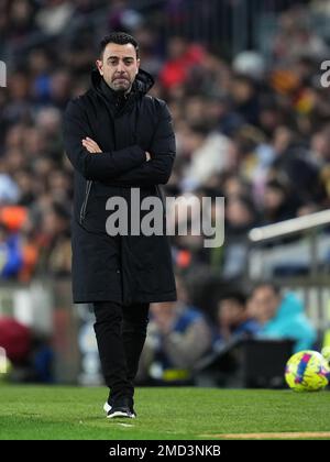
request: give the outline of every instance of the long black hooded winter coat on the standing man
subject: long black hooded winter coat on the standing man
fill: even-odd
[[[111,237],[106,232],[110,197],[123,197],[130,206],[133,187],[140,187],[141,201],[146,196],[161,197],[157,185],[167,183],[175,158],[167,106],[146,95],[153,79],[143,70],[127,98],[113,92],[97,70],[91,81],[91,89],[72,100],[64,117],[65,151],[75,168],[74,302],[175,300],[165,232],[151,237]],[[98,143],[101,154],[89,154],[82,147],[86,136]],[[150,162],[145,151],[152,154]],[[165,213],[163,220],[165,230]]]

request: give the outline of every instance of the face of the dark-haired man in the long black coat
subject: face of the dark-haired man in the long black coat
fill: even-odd
[[[108,43],[102,58],[96,64],[112,90],[128,92],[139,72],[140,59],[136,58],[136,51],[131,43],[125,45]]]

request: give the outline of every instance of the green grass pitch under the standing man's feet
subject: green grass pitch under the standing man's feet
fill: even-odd
[[[138,418],[113,420],[102,410],[106,396],[100,387],[1,385],[0,439],[193,440],[268,432],[274,439],[283,432],[330,439],[329,392],[138,388]]]

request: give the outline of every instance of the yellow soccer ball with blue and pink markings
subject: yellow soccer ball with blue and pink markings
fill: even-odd
[[[295,392],[318,392],[330,380],[328,361],[318,351],[299,351],[286,363],[285,380]]]

